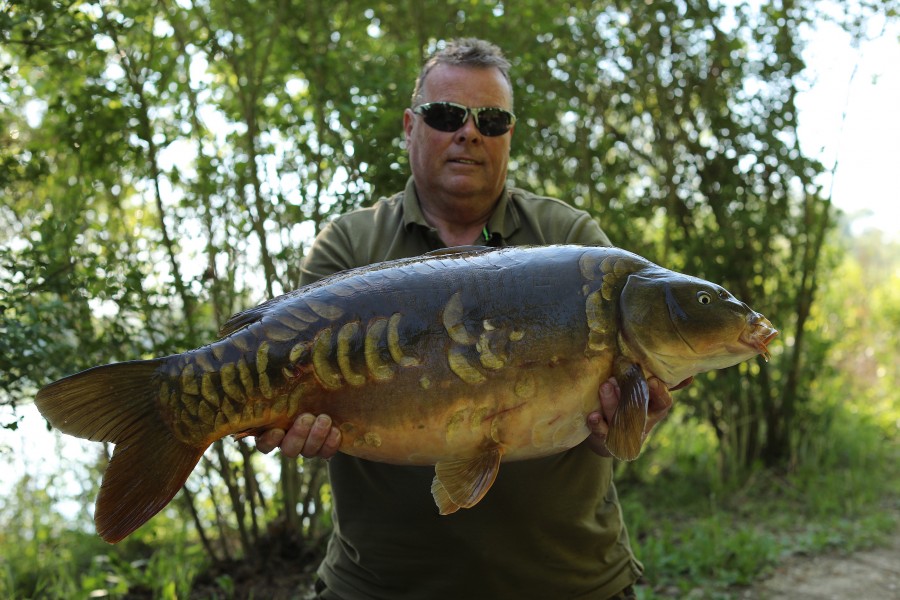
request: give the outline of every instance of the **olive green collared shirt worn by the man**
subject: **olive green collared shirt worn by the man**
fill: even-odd
[[[587,213],[513,187],[485,229],[473,243],[609,245]],[[441,247],[410,179],[403,192],[326,226],[304,261],[302,283]],[[480,503],[441,516],[432,467],[339,453],[328,469],[335,523],[319,568],[328,587],[322,597],[605,600],[643,570],[629,546],[612,466],[585,444],[503,463]]]

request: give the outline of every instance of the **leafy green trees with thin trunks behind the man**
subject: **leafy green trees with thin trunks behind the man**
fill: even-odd
[[[769,365],[680,392],[677,422],[624,481],[652,489],[686,475],[685,502],[709,510],[711,494],[756,491],[773,473],[805,474],[806,490],[824,485],[811,473],[896,458],[897,248],[841,235],[816,183],[824,168],[800,151],[794,106],[802,28],[829,18],[861,36],[867,20],[896,18],[896,1],[837,15],[811,0],[0,9],[0,404],[27,404],[36,387],[95,364],[199,346],[233,312],[292,289],[329,218],[402,188],[400,115],[418,67],[440,40],[474,35],[499,42],[514,65],[513,181],[588,210],[624,248],[722,283],[782,330]],[[867,290],[866,302],[850,289]],[[140,544],[177,548],[170,555],[193,557],[197,571],[260,548],[314,564],[330,527],[325,479],[317,461],[217,443]],[[851,508],[879,501],[854,481]],[[52,486],[38,501],[34,482],[16,485],[4,516],[34,526],[2,535],[33,554],[7,571],[11,589],[124,593],[110,573],[126,591],[190,589],[189,575],[160,578],[165,565],[127,572],[135,556],[164,554],[103,553],[79,533],[90,532],[84,515],[71,523],[53,512]],[[93,492],[85,483],[79,497]],[[35,505],[50,514],[15,512]],[[641,521],[642,510],[632,507],[637,539],[671,539],[645,527],[657,517]],[[91,563],[96,581],[73,583],[29,568],[51,542],[79,548],[69,550],[72,573],[85,572],[78,560],[120,558]],[[763,563],[777,556],[763,547]],[[141,573],[156,575],[135,583]],[[154,588],[159,580],[171,589]]]

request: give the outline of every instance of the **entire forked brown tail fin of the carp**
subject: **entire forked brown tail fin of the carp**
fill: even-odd
[[[160,413],[155,376],[165,360],[95,367],[35,397],[41,414],[63,433],[116,445],[94,511],[97,533],[111,544],[162,510],[206,450],[177,439]]]

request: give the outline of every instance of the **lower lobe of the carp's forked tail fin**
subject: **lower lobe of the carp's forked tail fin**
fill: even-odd
[[[187,481],[206,448],[152,428],[116,444],[97,496],[94,524],[110,544],[122,540],[162,510]]]

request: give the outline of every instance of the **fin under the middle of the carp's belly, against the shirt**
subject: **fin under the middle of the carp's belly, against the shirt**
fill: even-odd
[[[437,463],[431,494],[441,514],[478,504],[497,479],[502,456],[502,448],[492,446],[478,456]]]

